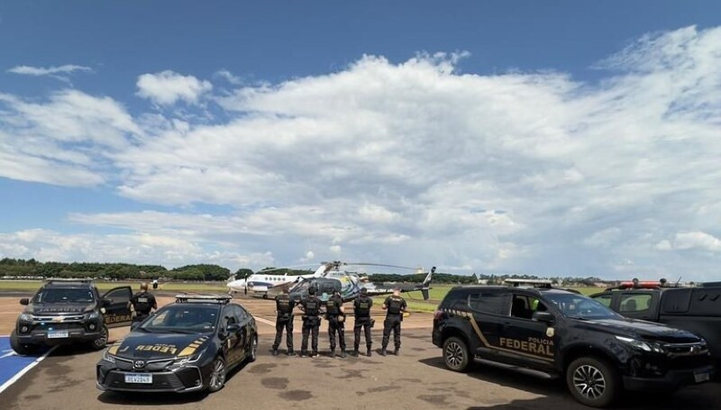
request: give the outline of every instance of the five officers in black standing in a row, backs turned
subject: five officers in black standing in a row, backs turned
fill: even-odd
[[[273,355],[278,355],[278,347],[283,337],[283,331],[286,332],[287,355],[295,354],[293,350],[293,308],[296,302],[287,294],[285,290],[281,295],[276,296],[276,339],[273,342]],[[370,317],[370,308],[373,306],[373,299],[368,296],[365,288],[360,289],[360,295],[353,300],[353,314],[355,315],[355,323],[353,323],[353,351],[352,355],[358,357],[360,348],[360,330],[363,330],[366,341],[366,354],[372,355],[372,339],[370,337],[370,328],[373,327],[375,320]],[[303,298],[298,307],[303,312],[303,339],[300,347],[300,357],[308,356],[308,338],[312,339],[310,357],[318,355],[318,333],[320,331],[321,315],[324,314],[328,321],[328,339],[331,344],[331,356],[335,357],[335,337],[338,336],[338,345],[341,348],[341,357],[345,358],[345,306],[339,292],[333,293],[325,303],[325,312],[321,312],[321,299],[315,295],[315,288],[308,289],[308,296]],[[398,355],[400,351],[400,323],[403,321],[403,314],[406,313],[406,300],[400,296],[400,291],[395,289],[393,295],[388,296],[382,305],[386,311],[386,320],[383,322],[383,340],[381,342],[380,355],[386,355],[390,333],[393,332],[393,342],[395,344],[394,354]]]

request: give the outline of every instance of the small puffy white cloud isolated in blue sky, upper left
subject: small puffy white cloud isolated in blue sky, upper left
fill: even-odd
[[[143,74],[138,77],[136,85],[138,96],[148,98],[158,105],[172,105],[181,100],[196,104],[200,96],[213,89],[210,81],[183,76],[170,70]]]

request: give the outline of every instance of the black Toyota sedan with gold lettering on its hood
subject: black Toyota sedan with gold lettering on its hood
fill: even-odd
[[[97,387],[190,392],[224,387],[228,372],[256,359],[258,328],[231,296],[176,296],[115,342],[97,363]]]

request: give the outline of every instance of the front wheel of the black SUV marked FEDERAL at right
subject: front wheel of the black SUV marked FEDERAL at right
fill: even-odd
[[[566,369],[566,385],[577,401],[591,407],[611,405],[622,388],[616,369],[595,357],[573,360]]]

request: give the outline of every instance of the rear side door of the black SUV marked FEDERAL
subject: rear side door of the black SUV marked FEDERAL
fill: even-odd
[[[478,338],[476,354],[494,359],[500,347],[503,314],[508,310],[506,292],[502,289],[474,289],[467,297],[470,315],[466,318]]]

